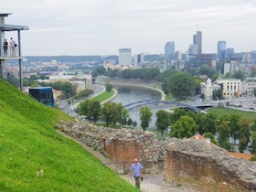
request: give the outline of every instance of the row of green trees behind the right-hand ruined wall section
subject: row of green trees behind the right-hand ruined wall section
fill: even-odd
[[[232,138],[233,144],[239,141],[241,153],[248,146],[252,154],[256,153],[256,119],[250,122],[248,119],[240,118],[240,115],[237,114],[217,117],[210,113],[202,114],[177,109],[170,116],[169,121],[170,136],[183,138],[200,133],[229,151],[234,150],[233,145],[229,142],[229,139]]]

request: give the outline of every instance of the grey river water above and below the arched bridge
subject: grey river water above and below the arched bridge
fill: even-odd
[[[129,104],[135,101],[142,100],[160,100],[161,94],[158,91],[154,91],[144,87],[136,87],[136,86],[127,86],[127,85],[113,85],[113,88],[118,91],[118,95],[112,102],[121,102],[124,105]],[[156,110],[152,110],[154,115],[152,116],[152,122],[149,124],[148,129],[155,129],[155,112]],[[137,122],[137,127],[141,127],[140,115],[138,112],[129,112],[133,121]]]

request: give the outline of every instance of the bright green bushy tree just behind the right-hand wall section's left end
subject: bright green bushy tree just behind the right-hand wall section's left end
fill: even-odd
[[[172,125],[170,136],[177,138],[191,137],[196,127],[197,125],[192,117],[187,115],[181,116],[179,120]]]

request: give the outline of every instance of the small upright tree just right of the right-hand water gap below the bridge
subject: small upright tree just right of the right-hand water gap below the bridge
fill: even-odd
[[[156,122],[155,126],[158,131],[160,131],[163,135],[164,131],[167,129],[170,123],[170,117],[168,112],[165,112],[164,110],[160,110],[156,112]]]

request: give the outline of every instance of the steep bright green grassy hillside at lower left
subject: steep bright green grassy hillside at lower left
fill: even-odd
[[[80,144],[56,132],[72,120],[0,78],[0,191],[133,191]],[[43,176],[37,172],[43,170]]]

